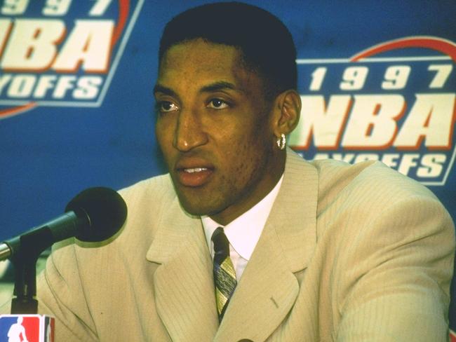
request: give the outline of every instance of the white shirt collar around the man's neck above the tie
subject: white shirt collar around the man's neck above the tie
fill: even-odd
[[[274,200],[276,200],[279,193],[282,180],[283,175],[267,196],[250,208],[250,210],[244,212],[240,217],[234,219],[227,226],[224,226],[224,233],[227,235],[230,245],[232,245],[237,254],[243,259],[250,260],[252,256],[253,249],[255,249],[260,239],[269,212],[271,212]],[[207,216],[201,217],[201,221],[203,222],[204,233],[206,234],[206,242],[208,243],[210,253],[213,254],[210,238],[215,229],[222,225],[217,224],[216,221]]]

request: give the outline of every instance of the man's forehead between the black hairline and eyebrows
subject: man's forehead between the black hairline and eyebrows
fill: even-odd
[[[172,86],[203,86],[214,81],[234,83],[243,90],[260,89],[261,80],[246,69],[234,46],[195,39],[171,46],[163,55],[159,83]]]

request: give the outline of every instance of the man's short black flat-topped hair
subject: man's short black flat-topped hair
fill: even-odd
[[[267,95],[297,89],[293,37],[279,18],[264,9],[222,2],[180,13],[163,30],[159,65],[171,46],[199,38],[238,48],[246,67],[264,79]]]

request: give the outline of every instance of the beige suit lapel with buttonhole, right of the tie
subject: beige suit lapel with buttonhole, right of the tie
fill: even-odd
[[[293,308],[316,246],[318,175],[313,165],[287,153],[281,190],[215,341],[264,341]]]

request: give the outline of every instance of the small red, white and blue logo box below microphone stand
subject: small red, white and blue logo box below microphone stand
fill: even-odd
[[[46,315],[1,315],[0,342],[53,342],[54,324]]]

